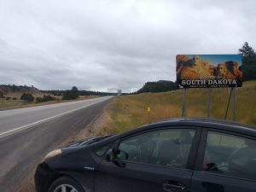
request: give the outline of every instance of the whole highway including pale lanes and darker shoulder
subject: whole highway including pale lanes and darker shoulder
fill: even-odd
[[[0,111],[0,191],[17,191],[45,154],[96,119],[111,98]]]

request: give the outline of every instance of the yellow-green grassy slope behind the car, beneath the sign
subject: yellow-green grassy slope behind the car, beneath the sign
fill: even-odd
[[[211,117],[224,119],[229,92],[227,88],[212,89]],[[236,121],[256,125],[256,81],[249,81],[236,88]],[[104,122],[98,135],[113,134],[145,125],[160,119],[181,117],[183,91],[164,93],[143,93],[132,96],[116,96],[108,105]],[[147,107],[151,112],[148,116]],[[231,119],[230,104],[228,119]],[[187,116],[207,116],[207,90],[190,89],[187,91]]]

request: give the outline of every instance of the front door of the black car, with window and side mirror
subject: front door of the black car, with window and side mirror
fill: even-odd
[[[189,191],[199,137],[196,129],[173,127],[121,138],[114,159],[97,169],[95,191]]]

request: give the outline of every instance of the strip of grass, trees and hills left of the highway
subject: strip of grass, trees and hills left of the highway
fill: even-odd
[[[0,84],[0,110],[116,95],[115,92],[79,90],[76,86],[73,86],[71,90],[38,90],[33,86]]]

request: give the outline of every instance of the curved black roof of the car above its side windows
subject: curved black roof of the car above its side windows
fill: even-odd
[[[156,127],[165,126],[196,126],[202,128],[212,128],[216,130],[234,131],[248,136],[256,137],[256,126],[237,123],[224,119],[206,119],[206,118],[177,118],[177,119],[163,119],[158,122],[143,125],[137,129],[126,131],[118,134],[117,137],[125,137],[139,131],[148,131]]]

